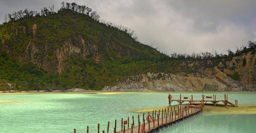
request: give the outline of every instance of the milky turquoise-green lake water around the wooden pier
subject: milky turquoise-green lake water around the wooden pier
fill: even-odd
[[[216,93],[215,93],[216,94]],[[226,93],[227,94],[227,93]],[[190,95],[190,94],[183,94]],[[212,94],[205,94],[212,96]],[[223,96],[224,93],[217,93]],[[239,104],[256,104],[256,93],[228,93]],[[172,94],[173,97],[178,94]],[[201,93],[193,93],[193,98]],[[0,133],[40,132],[69,133],[137,116],[133,110],[168,106],[168,94],[124,93],[103,94],[0,94]],[[256,114],[202,113],[186,122],[178,123],[170,132],[256,132]],[[192,126],[194,127],[192,128]],[[103,126],[101,126],[103,127]]]

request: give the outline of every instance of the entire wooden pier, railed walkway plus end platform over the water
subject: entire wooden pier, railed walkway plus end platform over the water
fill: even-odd
[[[201,97],[201,96],[200,96]],[[216,95],[204,96],[201,98],[198,96],[168,96],[169,107],[162,110],[152,110],[142,116],[132,116],[127,118],[121,118],[121,120],[106,125],[98,124],[96,127],[86,127],[82,130],[74,129],[72,133],[155,133],[162,129],[179,123],[185,119],[191,118],[195,114],[202,112],[204,104],[207,102],[212,103],[214,106],[218,102],[223,102],[226,106],[237,106],[237,100],[235,104],[228,101],[228,96],[225,94],[223,99]],[[173,101],[178,102],[178,105],[171,106]],[[183,104],[187,102],[186,104]]]

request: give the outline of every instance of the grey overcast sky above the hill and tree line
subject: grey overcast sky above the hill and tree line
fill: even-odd
[[[40,10],[63,0],[0,0],[4,14]],[[226,53],[256,40],[256,0],[65,0],[90,6],[101,19],[135,30],[139,41],[172,54]]]

